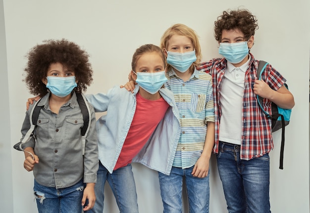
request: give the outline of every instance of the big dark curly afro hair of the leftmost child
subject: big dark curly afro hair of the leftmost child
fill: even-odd
[[[52,63],[60,63],[67,69],[74,71],[78,80],[74,91],[81,93],[93,82],[92,66],[89,62],[89,54],[79,45],[62,40],[45,40],[43,44],[32,47],[26,54],[28,62],[24,71],[23,80],[33,95],[41,97],[47,94],[48,89],[42,82],[47,76]]]

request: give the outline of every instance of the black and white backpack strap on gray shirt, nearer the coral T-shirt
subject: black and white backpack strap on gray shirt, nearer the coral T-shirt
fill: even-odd
[[[85,145],[86,145],[86,137],[90,128],[90,123],[91,123],[91,110],[88,106],[87,100],[85,96],[82,93],[75,93],[77,101],[79,103],[82,115],[83,115],[83,120],[84,120],[84,125],[81,130],[82,134],[82,154],[85,154]]]

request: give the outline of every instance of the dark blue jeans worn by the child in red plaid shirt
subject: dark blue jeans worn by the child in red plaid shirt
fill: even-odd
[[[217,168],[229,213],[270,213],[269,155],[240,159],[240,145],[219,142]]]

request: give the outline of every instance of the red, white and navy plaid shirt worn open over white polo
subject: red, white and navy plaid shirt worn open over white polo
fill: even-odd
[[[251,59],[245,74],[244,94],[242,100],[242,132],[240,158],[250,160],[260,157],[273,149],[271,135],[271,119],[267,119],[259,108],[253,85],[257,79],[258,61],[250,53]],[[219,90],[226,70],[226,59],[214,58],[209,62],[202,63],[197,69],[212,75],[215,113],[215,145],[213,151],[218,153],[219,123],[221,118],[221,97]],[[278,90],[286,80],[271,65],[267,65],[262,74],[262,79],[273,90]],[[264,109],[271,114],[271,101],[263,99]],[[238,110],[238,109],[231,109]]]

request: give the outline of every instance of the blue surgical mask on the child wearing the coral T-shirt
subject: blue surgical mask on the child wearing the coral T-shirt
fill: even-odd
[[[135,72],[134,72],[135,73]],[[151,94],[155,94],[160,87],[168,81],[165,76],[165,71],[156,73],[135,73],[137,75],[136,82],[144,90]]]

